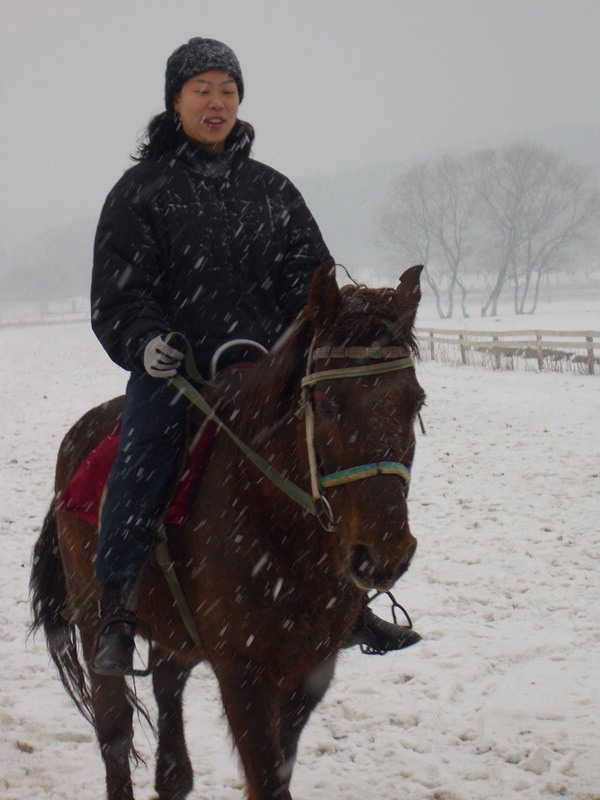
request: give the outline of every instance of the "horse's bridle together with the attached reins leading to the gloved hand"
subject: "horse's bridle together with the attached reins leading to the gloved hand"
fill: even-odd
[[[191,347],[187,340],[185,340],[185,349],[185,366],[188,373],[194,380],[203,385],[214,386],[214,383],[204,380],[198,373],[191,354]],[[312,371],[315,361],[329,360],[332,358],[382,359],[382,361],[378,364],[322,370],[320,372]],[[394,360],[387,361],[386,359]],[[286,478],[285,475],[282,475],[281,472],[275,469],[266,459],[262,458],[262,456],[258,455],[252,448],[248,447],[248,445],[217,416],[216,410],[186,378],[178,374],[170,378],[170,383],[181,392],[181,394],[187,397],[191,403],[199,408],[208,419],[213,420],[218,428],[229,436],[265,477],[301,508],[309,514],[314,515],[326,530],[333,531],[336,528],[333,512],[327,498],[322,492],[323,489],[381,474],[398,475],[402,478],[406,487],[408,487],[410,470],[404,464],[400,464],[396,461],[381,461],[373,464],[363,464],[358,467],[351,467],[350,469],[320,476],[314,442],[315,418],[312,403],[312,387],[320,381],[358,378],[363,375],[380,375],[387,372],[395,372],[400,369],[407,369],[412,366],[414,366],[412,357],[407,355],[406,351],[399,347],[380,347],[375,343],[372,347],[318,347],[315,349],[313,340],[308,355],[306,375],[301,382],[301,409],[304,409],[305,415],[311,494],[308,494],[296,483]]]

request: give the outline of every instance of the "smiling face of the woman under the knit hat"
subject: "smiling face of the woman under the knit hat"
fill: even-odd
[[[236,123],[239,104],[236,82],[217,70],[189,78],[173,99],[186,136],[217,153]]]

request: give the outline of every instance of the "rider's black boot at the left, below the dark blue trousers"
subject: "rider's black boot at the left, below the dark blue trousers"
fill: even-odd
[[[126,608],[124,591],[105,587],[100,601],[101,628],[92,669],[99,675],[133,674],[136,616]]]

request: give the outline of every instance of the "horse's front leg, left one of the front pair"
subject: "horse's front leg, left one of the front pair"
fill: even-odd
[[[250,665],[215,664],[221,699],[248,787],[248,800],[292,800],[279,744],[280,698]]]

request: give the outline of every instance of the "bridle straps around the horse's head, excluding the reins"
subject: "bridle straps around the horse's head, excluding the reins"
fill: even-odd
[[[314,371],[317,361],[330,361],[331,359],[377,359],[375,364],[361,364],[355,367],[342,367]],[[394,360],[388,360],[394,359]],[[377,461],[370,464],[361,464],[356,467],[319,474],[319,465],[315,449],[315,409],[312,389],[321,381],[341,380],[344,378],[359,378],[364,375],[382,375],[387,372],[397,372],[401,369],[414,367],[412,356],[400,347],[382,347],[375,342],[371,347],[315,347],[315,340],[311,344],[306,363],[306,375],[302,378],[301,409],[304,410],[306,428],[306,447],[310,469],[310,487],[312,499],[315,504],[316,516],[321,525],[328,531],[336,528],[333,512],[325,489],[342,486],[353,481],[372,478],[375,475],[397,475],[404,483],[404,493],[408,494],[410,483],[410,469],[399,461]]]

